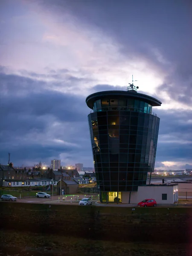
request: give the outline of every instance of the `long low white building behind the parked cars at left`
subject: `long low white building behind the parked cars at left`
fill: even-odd
[[[16,179],[5,179],[3,181],[3,186],[5,187],[23,187],[23,186],[47,186],[47,185],[57,185],[58,181],[50,178],[39,178],[39,179],[27,179],[27,180],[16,180]]]

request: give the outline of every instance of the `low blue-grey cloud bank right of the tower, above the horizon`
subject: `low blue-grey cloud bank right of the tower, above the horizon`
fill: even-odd
[[[160,117],[159,137],[157,144],[158,161],[191,162],[192,122],[189,111],[165,111],[155,109]]]

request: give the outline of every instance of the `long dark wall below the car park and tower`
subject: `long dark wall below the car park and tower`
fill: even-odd
[[[192,208],[0,203],[0,227],[109,241],[189,243]]]

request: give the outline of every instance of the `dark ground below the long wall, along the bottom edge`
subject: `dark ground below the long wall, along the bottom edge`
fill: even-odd
[[[0,230],[0,256],[8,255],[191,256],[192,254],[187,244],[120,243]]]

